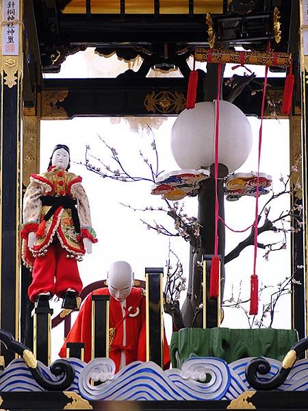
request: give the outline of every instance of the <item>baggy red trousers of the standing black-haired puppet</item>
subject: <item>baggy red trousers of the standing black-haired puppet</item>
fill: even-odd
[[[58,240],[49,245],[47,253],[36,257],[32,271],[32,283],[28,288],[31,301],[35,301],[40,292],[49,291],[51,295],[62,297],[71,288],[78,292],[82,290],[77,261],[66,258],[68,251],[61,247]]]

